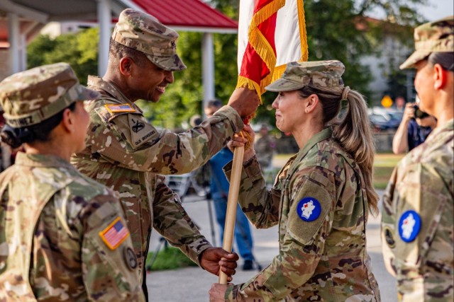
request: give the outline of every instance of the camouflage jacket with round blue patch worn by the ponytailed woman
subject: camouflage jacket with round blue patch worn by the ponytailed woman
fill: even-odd
[[[226,301],[380,301],[366,252],[362,176],[331,128],[289,159],[270,191],[255,157],[243,168],[240,205],[257,228],[279,224],[279,255],[229,286]]]

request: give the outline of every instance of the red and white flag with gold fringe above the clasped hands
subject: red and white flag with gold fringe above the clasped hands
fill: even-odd
[[[260,97],[287,63],[307,57],[303,0],[240,0],[237,87]]]

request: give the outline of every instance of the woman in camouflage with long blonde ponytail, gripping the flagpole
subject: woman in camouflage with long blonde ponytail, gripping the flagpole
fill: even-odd
[[[293,62],[267,86],[279,92],[277,128],[300,150],[267,190],[246,149],[238,202],[257,228],[279,224],[279,255],[244,284],[214,284],[211,301],[380,301],[366,252],[368,211],[378,201],[374,146],[365,100],[343,85],[343,71],[338,61]],[[333,122],[343,101],[345,118]]]

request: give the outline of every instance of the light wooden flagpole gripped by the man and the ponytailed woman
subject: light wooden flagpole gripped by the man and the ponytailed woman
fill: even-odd
[[[244,147],[235,148],[233,151],[233,165],[228,189],[226,224],[224,226],[224,237],[222,248],[228,252],[232,251],[233,232],[235,231],[236,207],[238,204],[238,193],[240,192],[241,170],[243,169]],[[227,284],[227,275],[219,270],[219,283]]]

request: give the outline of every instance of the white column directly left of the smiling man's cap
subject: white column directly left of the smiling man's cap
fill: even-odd
[[[96,0],[98,2],[98,23],[99,23],[99,57],[98,75],[104,76],[109,60],[109,40],[111,37],[111,1]]]

